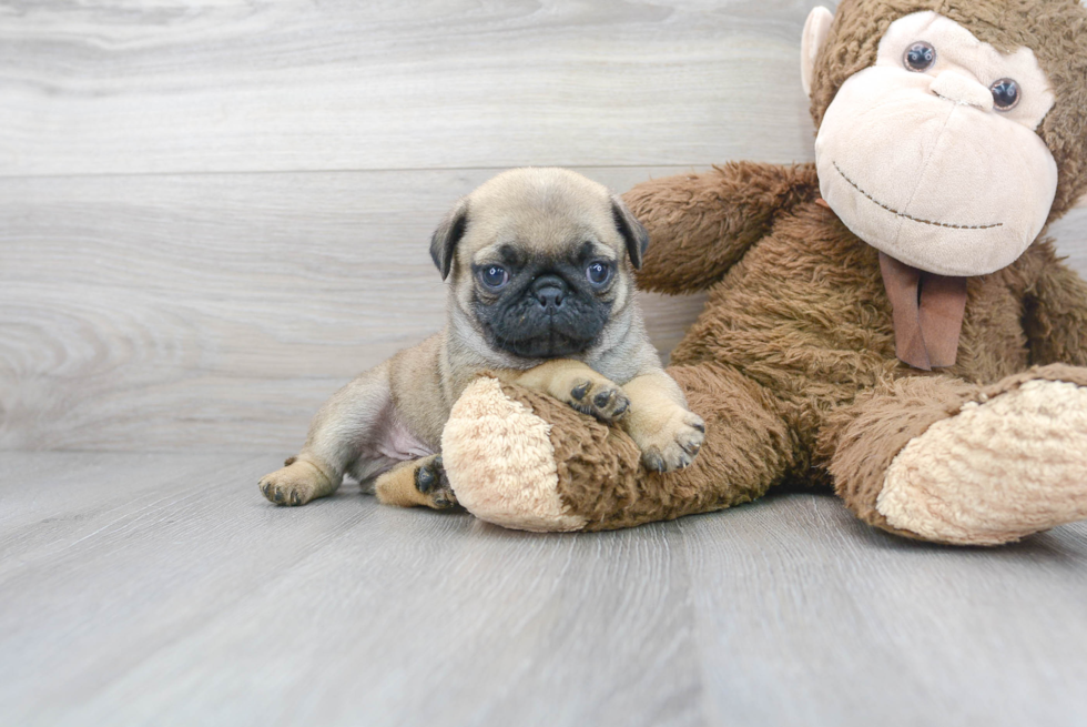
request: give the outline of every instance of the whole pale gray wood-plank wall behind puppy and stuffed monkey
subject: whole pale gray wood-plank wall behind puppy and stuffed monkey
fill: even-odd
[[[813,4],[0,3],[0,448],[293,451],[440,326],[427,238],[498,170],[810,160]]]

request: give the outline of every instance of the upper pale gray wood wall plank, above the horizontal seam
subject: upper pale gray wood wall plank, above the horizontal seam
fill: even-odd
[[[8,2],[0,174],[803,160],[813,4]]]

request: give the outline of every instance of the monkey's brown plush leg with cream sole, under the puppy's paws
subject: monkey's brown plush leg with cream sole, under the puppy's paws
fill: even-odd
[[[643,469],[618,427],[522,387],[477,381],[441,443],[460,504],[519,529],[611,529],[748,502],[795,465],[795,438],[756,383],[711,365],[669,374],[707,432],[694,462],[667,474]]]

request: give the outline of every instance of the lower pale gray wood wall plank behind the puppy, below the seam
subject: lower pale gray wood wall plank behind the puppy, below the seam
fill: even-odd
[[[0,448],[293,452],[441,327],[429,234],[491,174],[0,180]],[[647,300],[667,353],[703,299]]]

